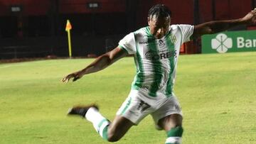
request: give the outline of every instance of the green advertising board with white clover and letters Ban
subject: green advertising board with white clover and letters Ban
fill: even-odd
[[[202,53],[256,51],[256,31],[232,31],[202,36]]]

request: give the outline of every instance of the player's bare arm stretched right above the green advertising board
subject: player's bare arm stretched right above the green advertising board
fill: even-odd
[[[209,21],[207,23],[201,23],[194,27],[193,38],[198,38],[204,34],[219,33],[226,31],[229,28],[239,25],[255,25],[256,24],[256,8],[247,13],[243,18],[224,20],[224,21]]]

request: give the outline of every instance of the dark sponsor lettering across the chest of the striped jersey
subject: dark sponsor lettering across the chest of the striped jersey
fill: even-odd
[[[177,52],[176,50],[174,51],[169,51],[169,52],[159,52],[159,54],[153,50],[149,50],[148,52],[145,53],[145,58],[146,60],[162,60],[166,59],[169,57],[176,57]]]

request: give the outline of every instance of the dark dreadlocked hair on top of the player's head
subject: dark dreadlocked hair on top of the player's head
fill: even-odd
[[[156,18],[164,18],[169,16],[171,17],[171,11],[164,4],[156,4],[155,6],[152,6],[151,9],[149,9],[148,16],[149,18],[151,18],[151,16],[156,16]]]

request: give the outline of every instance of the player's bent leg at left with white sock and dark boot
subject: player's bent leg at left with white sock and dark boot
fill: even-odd
[[[78,115],[90,121],[99,135],[110,142],[115,142],[122,138],[134,123],[122,116],[116,116],[113,123],[103,117],[95,104],[90,106],[74,106],[68,110],[68,115]]]

